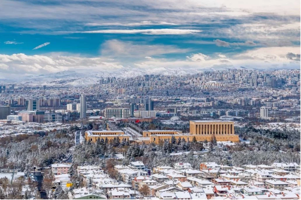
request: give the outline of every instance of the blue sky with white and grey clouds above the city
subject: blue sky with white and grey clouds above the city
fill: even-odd
[[[300,68],[300,1],[1,0],[0,77]]]

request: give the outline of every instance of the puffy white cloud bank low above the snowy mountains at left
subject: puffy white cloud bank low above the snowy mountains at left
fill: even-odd
[[[65,70],[116,70],[123,68],[118,62],[103,57],[53,55],[0,54],[0,72],[4,74],[47,74]]]

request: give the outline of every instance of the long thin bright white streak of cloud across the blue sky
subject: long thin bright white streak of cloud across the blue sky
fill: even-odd
[[[58,32],[58,33],[113,33],[113,34],[144,34],[144,35],[184,35],[199,33],[197,29],[108,29],[94,31]]]

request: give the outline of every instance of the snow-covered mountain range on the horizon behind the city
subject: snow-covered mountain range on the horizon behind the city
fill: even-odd
[[[234,68],[233,66],[229,68]],[[245,69],[244,67],[237,67],[240,69]],[[225,70],[227,68],[223,68]],[[88,84],[96,84],[102,77],[137,77],[146,74],[161,74],[161,75],[188,75],[197,74],[203,71],[214,71],[222,70],[220,68],[207,68],[204,69],[184,69],[184,68],[152,68],[152,69],[122,69],[115,71],[86,71],[86,72],[76,72],[76,71],[61,71],[51,74],[43,75],[30,75],[23,76],[17,79],[0,79],[0,83],[22,83],[24,85],[46,85],[46,86],[86,86]]]

